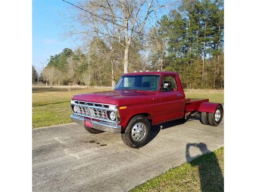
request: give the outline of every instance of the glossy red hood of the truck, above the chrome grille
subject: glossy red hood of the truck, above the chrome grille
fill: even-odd
[[[156,92],[151,91],[113,90],[77,94],[73,96],[72,100],[81,100],[95,103],[113,104],[116,106],[124,106],[153,102],[153,95],[155,94]]]

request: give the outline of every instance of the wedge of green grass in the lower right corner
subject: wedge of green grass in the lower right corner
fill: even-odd
[[[224,147],[172,168],[130,192],[224,191]]]

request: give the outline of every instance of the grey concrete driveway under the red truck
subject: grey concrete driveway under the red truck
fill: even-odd
[[[206,150],[188,144],[204,143]],[[128,191],[150,178],[224,145],[224,122],[204,126],[198,116],[154,126],[150,142],[132,149],[120,134],[90,134],[72,123],[32,130],[33,191]]]

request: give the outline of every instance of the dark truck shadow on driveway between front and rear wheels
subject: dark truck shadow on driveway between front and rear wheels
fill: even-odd
[[[190,114],[187,118],[186,121],[192,121],[192,120],[200,120],[200,114],[199,113],[193,113]],[[171,128],[177,125],[181,125],[184,124],[185,122],[183,120],[174,120],[174,121],[169,121],[166,123],[162,123],[162,124],[158,124],[158,125],[154,125],[151,128],[151,135],[150,138],[148,140],[148,143],[151,142],[160,132],[161,129],[166,129],[166,128]]]

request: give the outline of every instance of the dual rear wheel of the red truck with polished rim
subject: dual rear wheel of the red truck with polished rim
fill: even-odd
[[[204,125],[218,126],[223,117],[223,108],[221,105],[217,106],[214,113],[201,112],[201,123]]]

